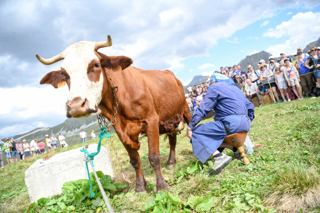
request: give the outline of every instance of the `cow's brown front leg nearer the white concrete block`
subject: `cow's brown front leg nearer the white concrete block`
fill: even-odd
[[[146,180],[143,177],[140,165],[140,156],[137,150],[131,148],[129,145],[124,144],[125,149],[127,150],[130,157],[130,164],[136,171],[136,193],[146,193]]]

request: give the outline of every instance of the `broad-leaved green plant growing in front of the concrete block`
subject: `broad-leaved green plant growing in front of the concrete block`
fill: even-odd
[[[127,185],[116,183],[112,184],[112,179],[109,175],[104,175],[101,171],[97,171],[101,185],[106,190],[107,196],[110,195],[108,190],[116,191],[119,188],[124,188]],[[68,181],[63,184],[62,194],[58,198],[40,198],[37,202],[31,203],[27,212],[100,212],[106,210],[106,204],[102,200],[102,194],[99,190],[98,182],[96,181],[93,172],[90,173],[92,181],[92,192],[95,194],[91,197],[89,190],[89,180],[79,179],[76,181]]]

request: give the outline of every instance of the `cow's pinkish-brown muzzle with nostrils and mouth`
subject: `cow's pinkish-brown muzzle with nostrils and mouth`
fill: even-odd
[[[80,96],[68,99],[66,103],[67,118],[71,117],[87,117],[91,113],[96,113],[98,111],[98,106],[95,106],[94,109],[90,109],[87,106],[88,100],[86,98],[81,98]]]

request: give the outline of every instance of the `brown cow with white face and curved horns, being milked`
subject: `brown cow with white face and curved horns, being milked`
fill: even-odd
[[[40,84],[67,83],[67,117],[81,118],[101,114],[109,121],[113,117],[113,93],[108,70],[118,86],[118,113],[114,129],[126,148],[130,163],[136,171],[136,192],[146,192],[146,180],[140,167],[137,150],[143,136],[148,137],[149,162],[156,173],[157,191],[168,190],[161,173],[159,134],[168,134],[170,154],[168,168],[175,165],[176,134],[190,122],[190,111],[181,82],[170,70],[141,70],[130,66],[132,59],[125,56],[106,56],[99,48],[112,45],[107,42],[77,42],[49,59],[36,54],[45,65],[63,59],[61,70],[47,73]],[[121,71],[121,72],[119,72]]]

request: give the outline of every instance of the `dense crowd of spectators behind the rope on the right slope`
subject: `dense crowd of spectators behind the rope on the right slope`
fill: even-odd
[[[280,53],[280,56],[277,61],[270,56],[268,63],[264,59],[259,60],[256,70],[252,65],[245,70],[240,65],[233,65],[220,67],[220,71],[215,72],[234,80],[250,101],[257,97],[259,106],[262,106],[260,95],[269,94],[273,103],[314,96],[312,88],[320,87],[320,47],[312,47],[308,53],[297,48],[294,60],[285,53]],[[187,88],[186,100],[191,112],[204,99],[209,89],[209,78],[200,85],[195,84],[194,88]]]

